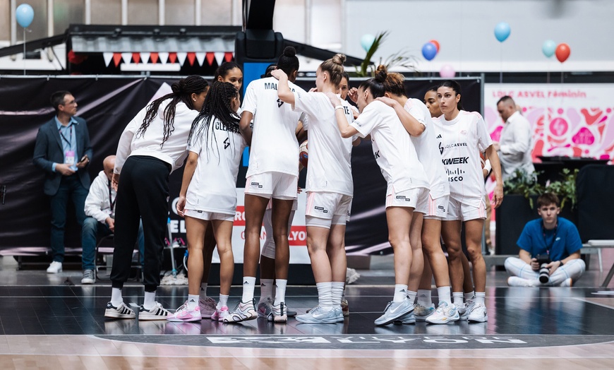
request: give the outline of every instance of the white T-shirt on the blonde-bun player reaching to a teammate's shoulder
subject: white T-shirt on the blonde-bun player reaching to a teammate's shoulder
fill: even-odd
[[[351,138],[342,138],[335,107],[324,93],[294,93],[294,109],[308,117],[309,168],[307,191],[327,191],[352,196]],[[354,120],[344,106],[348,122]]]

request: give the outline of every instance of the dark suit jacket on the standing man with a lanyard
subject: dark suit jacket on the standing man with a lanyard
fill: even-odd
[[[73,118],[78,122],[78,124],[75,125],[77,161],[80,160],[83,155],[88,155],[91,161],[92,146],[90,145],[88,125],[83,118]],[[59,172],[53,172],[52,166],[54,163],[64,163],[64,148],[62,147],[55,117],[38,129],[33,162],[35,166],[44,170],[44,193],[48,196],[57,193],[62,175]],[[88,174],[88,169],[81,168],[77,171],[77,174],[85,189],[90,189],[90,174]]]

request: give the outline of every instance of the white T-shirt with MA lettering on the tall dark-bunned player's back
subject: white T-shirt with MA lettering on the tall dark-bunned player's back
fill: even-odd
[[[279,100],[277,82],[274,77],[253,80],[245,92],[241,111],[254,115],[246,177],[263,172],[299,177],[299,142],[295,130],[301,114]],[[294,83],[288,84],[294,93],[305,94]]]

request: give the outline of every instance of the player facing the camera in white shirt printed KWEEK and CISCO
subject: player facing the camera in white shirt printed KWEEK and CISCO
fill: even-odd
[[[484,322],[488,320],[488,314],[485,306],[486,264],[482,257],[481,239],[486,204],[480,153],[486,151],[497,181],[493,196],[495,208],[503,200],[501,166],[481,115],[462,110],[459,83],[454,80],[443,82],[439,85],[437,97],[443,116],[434,122],[442,136],[441,155],[450,182],[450,203],[441,231],[450,257],[452,292],[459,292],[454,295],[455,305],[460,306],[456,297],[462,292],[464,282],[460,257],[460,236],[464,222],[465,241],[473,265],[476,291],[474,301],[468,302],[464,308],[469,321]]]

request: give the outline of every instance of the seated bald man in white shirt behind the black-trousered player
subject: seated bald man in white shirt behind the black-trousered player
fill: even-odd
[[[115,230],[116,192],[111,186],[115,156],[109,155],[109,157],[104,158],[102,167],[104,169],[92,181],[88,197],[85,198],[85,215],[87,217],[83,222],[81,232],[81,243],[83,244],[83,254],[81,257],[83,278],[81,279],[81,284],[94,284],[94,258],[97,238],[113,234]],[[138,229],[140,265],[143,265],[144,244],[143,226],[140,225]]]

